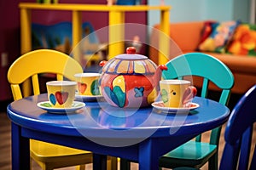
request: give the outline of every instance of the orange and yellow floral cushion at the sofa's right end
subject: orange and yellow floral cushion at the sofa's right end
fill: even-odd
[[[256,55],[256,25],[241,24],[236,28],[227,51],[230,54]]]

